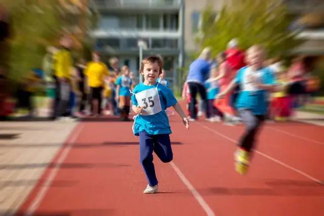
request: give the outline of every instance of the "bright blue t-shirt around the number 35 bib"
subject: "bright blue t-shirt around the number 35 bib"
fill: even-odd
[[[137,115],[133,125],[133,132],[135,136],[139,136],[139,133],[143,131],[152,135],[172,133],[169,118],[165,110],[168,107],[174,106],[178,102],[171,89],[168,89],[163,84],[158,82],[156,82],[155,85],[145,85],[144,83],[139,83],[136,85],[133,91],[133,105],[138,106],[135,94],[152,88],[157,88],[162,111],[153,115]]]

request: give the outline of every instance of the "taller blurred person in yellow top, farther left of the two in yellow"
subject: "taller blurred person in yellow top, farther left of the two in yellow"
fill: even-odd
[[[54,119],[62,117],[66,111],[71,91],[72,56],[70,48],[72,39],[64,35],[60,39],[61,49],[54,55],[54,77],[56,82],[56,100]]]

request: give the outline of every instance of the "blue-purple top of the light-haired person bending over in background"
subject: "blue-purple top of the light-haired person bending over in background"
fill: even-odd
[[[211,70],[211,64],[204,59],[196,59],[189,66],[187,82],[199,82],[204,84]]]

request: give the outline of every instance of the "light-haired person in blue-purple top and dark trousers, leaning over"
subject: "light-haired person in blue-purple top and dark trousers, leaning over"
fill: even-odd
[[[189,91],[191,94],[191,103],[189,105],[190,121],[194,121],[197,118],[195,107],[197,104],[197,93],[200,95],[200,99],[203,101],[204,110],[207,107],[207,93],[204,86],[205,81],[208,79],[211,64],[210,59],[212,55],[211,48],[205,48],[200,56],[194,60],[189,66],[189,73],[186,82],[189,85]],[[207,114],[206,114],[207,116]]]

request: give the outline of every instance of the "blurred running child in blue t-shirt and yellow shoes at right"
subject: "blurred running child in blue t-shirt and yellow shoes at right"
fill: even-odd
[[[277,89],[271,69],[263,67],[264,54],[261,46],[252,46],[247,53],[249,65],[238,70],[228,88],[217,96],[223,98],[240,85],[241,92],[235,107],[246,124],[246,131],[241,136],[234,154],[235,169],[239,174],[245,174],[248,169],[256,134],[268,110],[268,92]]]

